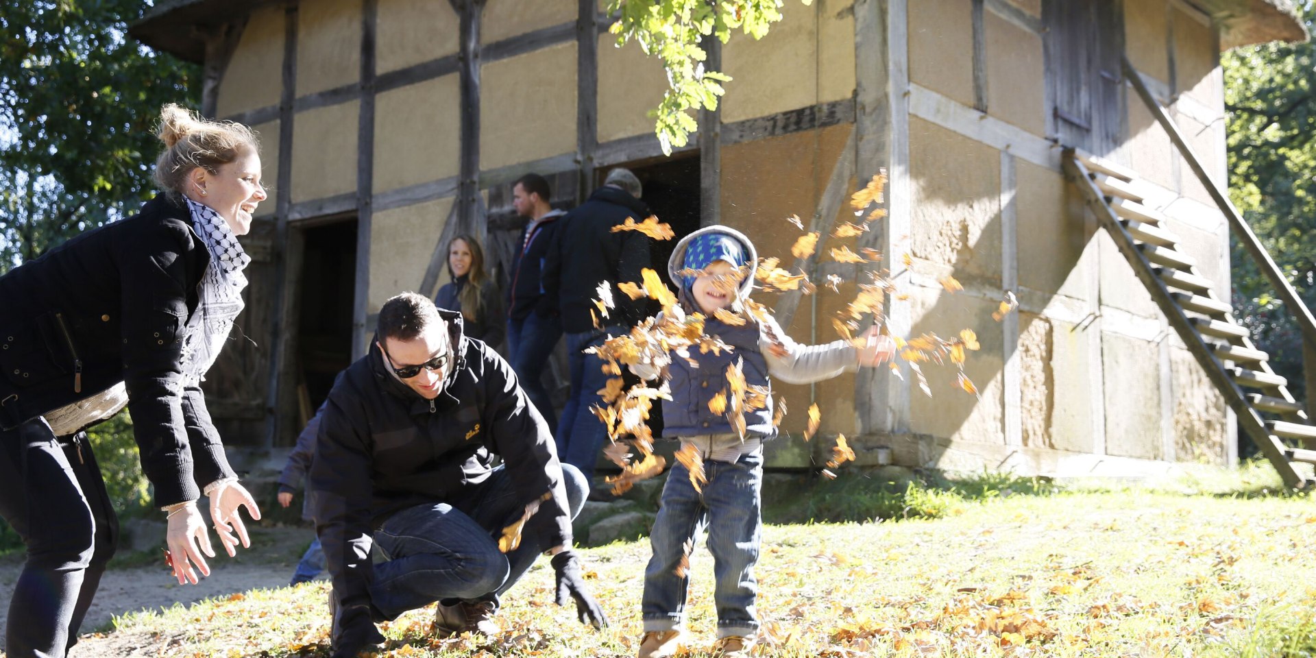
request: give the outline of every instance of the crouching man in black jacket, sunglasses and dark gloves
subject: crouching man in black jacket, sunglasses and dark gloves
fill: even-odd
[[[584,476],[558,462],[507,362],[424,296],[384,303],[370,353],[338,376],[308,488],[333,575],[336,658],[383,642],[375,622],[434,601],[441,637],[496,634],[500,596],[541,553],[553,554],[558,605],[571,597],[580,621],[607,624],[571,551]]]

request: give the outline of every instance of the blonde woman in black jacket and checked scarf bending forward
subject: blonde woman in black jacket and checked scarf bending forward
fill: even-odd
[[[28,547],[12,657],[61,657],[78,641],[118,534],[84,430],[124,407],[179,584],[209,575],[203,553],[215,557],[201,492],[229,555],[250,544],[238,507],[261,517],[200,388],[242,311],[250,258],[237,236],[266,197],[255,134],[166,105],[159,137],[163,195],[0,276],[0,516]]]

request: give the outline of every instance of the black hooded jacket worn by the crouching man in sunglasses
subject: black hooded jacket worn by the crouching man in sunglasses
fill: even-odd
[[[457,358],[437,399],[425,400],[393,376],[372,342],[338,376],[321,412],[308,495],[333,575],[340,632],[361,633],[371,622],[372,532],[408,507],[470,494],[488,478],[495,454],[515,474],[524,504],[553,494],[525,532],[537,528],[550,546],[571,545],[562,466],[547,425],[511,366],[462,336],[461,313],[440,316]]]

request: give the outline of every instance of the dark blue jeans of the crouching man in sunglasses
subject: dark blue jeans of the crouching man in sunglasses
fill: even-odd
[[[545,550],[547,537],[521,536],[512,553],[497,550],[497,538],[525,512],[515,474],[500,466],[470,497],[453,507],[422,504],[403,509],[375,530],[375,546],[384,562],[374,567],[370,599],[386,617],[422,608],[438,600],[487,600],[495,605]],[[567,509],[575,519],[584,507],[588,483],[580,471],[562,465]],[[540,513],[549,513],[541,508]],[[570,549],[570,546],[567,546]]]

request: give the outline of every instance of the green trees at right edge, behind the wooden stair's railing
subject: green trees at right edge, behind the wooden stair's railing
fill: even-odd
[[[1300,11],[1316,32],[1316,9]],[[1234,205],[1299,296],[1316,305],[1316,43],[1265,43],[1221,57]],[[1303,396],[1302,333],[1246,251],[1232,243],[1233,303],[1271,366]]]

